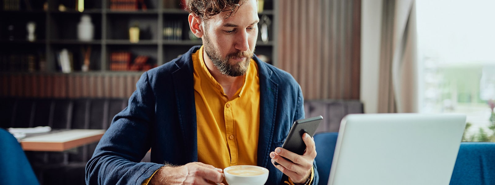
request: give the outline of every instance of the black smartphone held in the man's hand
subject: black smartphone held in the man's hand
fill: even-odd
[[[304,150],[306,150],[306,144],[302,141],[302,135],[304,133],[308,133],[309,136],[313,137],[314,132],[316,132],[321,120],[323,120],[323,116],[319,115],[316,117],[294,121],[291,130],[289,131],[289,135],[287,135],[284,144],[282,144],[282,148],[297,153],[298,155],[302,155]],[[279,163],[275,162],[275,165],[279,165]]]

